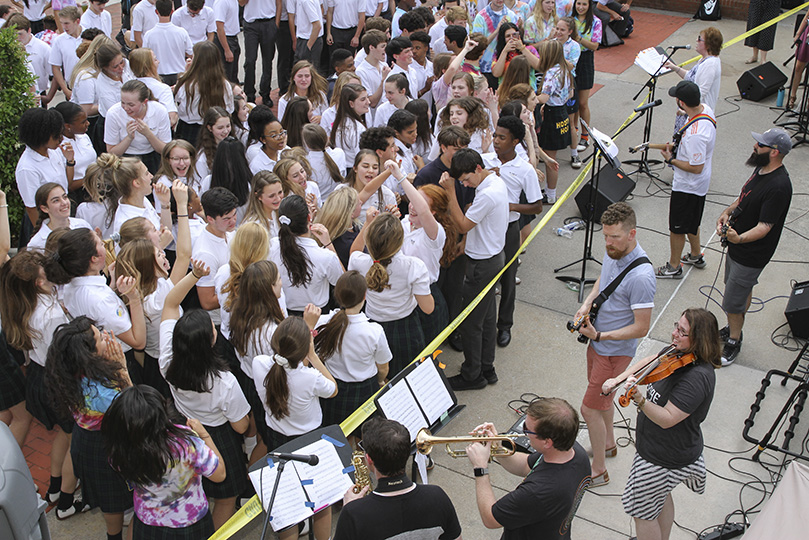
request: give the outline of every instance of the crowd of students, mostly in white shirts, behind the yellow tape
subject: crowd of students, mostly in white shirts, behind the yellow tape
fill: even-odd
[[[104,4],[63,6],[51,46],[7,23],[42,107],[19,119],[0,409],[21,445],[31,414],[57,431],[58,517],[100,506],[120,538],[134,505],[136,538],[200,537],[248,463],[344,420],[516,254],[558,152],[581,166],[601,24],[588,0],[250,0],[242,87],[236,0],[141,0],[131,51]],[[451,338],[456,390],[497,382],[516,273]]]

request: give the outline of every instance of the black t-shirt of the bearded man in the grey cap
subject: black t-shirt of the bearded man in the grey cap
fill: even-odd
[[[782,165],[771,173],[760,175],[759,169],[742,188],[739,209],[733,228],[742,234],[759,223],[772,224],[764,238],[744,244],[728,244],[728,256],[751,268],[764,268],[772,259],[792,201],[792,182]]]

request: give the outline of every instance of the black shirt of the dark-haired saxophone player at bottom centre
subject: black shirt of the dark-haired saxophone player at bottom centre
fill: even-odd
[[[403,495],[371,493],[345,505],[334,540],[384,540],[408,533],[408,540],[450,540],[461,536],[455,507],[444,490],[417,485]]]

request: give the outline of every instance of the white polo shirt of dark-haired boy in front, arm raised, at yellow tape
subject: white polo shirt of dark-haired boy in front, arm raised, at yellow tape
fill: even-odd
[[[466,233],[465,253],[470,258],[490,259],[503,251],[508,229],[508,190],[500,177],[491,173],[480,183],[466,217],[475,222]]]

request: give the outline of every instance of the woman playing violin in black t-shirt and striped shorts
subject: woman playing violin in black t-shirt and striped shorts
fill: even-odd
[[[671,491],[681,482],[696,493],[705,491],[705,461],[700,424],[708,415],[720,366],[719,326],[713,313],[686,309],[671,334],[676,351],[661,358],[693,354],[694,361],[647,385],[646,395],[634,391],[638,407],[637,443],[629,480],[622,497],[624,511],[635,520],[638,540],[666,540],[674,523]],[[647,359],[650,360],[650,359]],[[639,364],[644,361],[639,362]],[[626,378],[635,382],[630,366],[604,383],[604,392]],[[644,384],[643,381],[640,384]]]

